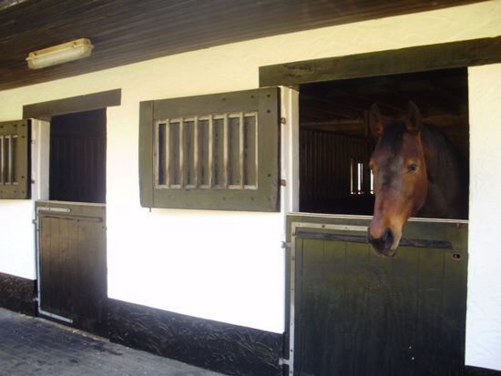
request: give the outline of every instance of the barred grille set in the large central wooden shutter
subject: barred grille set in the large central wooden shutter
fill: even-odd
[[[256,112],[155,123],[157,188],[257,189]]]

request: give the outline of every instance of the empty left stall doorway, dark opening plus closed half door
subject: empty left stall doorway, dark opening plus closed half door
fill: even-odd
[[[41,315],[107,333],[106,109],[52,117],[36,205]]]

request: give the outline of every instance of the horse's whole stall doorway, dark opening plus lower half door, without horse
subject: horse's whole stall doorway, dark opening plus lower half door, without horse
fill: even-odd
[[[467,169],[467,81],[467,69],[454,68],[300,86],[302,213],[288,218],[291,373],[463,374],[467,222],[412,218],[398,254],[383,258],[368,245],[365,216],[374,207],[373,103],[399,117],[413,101]]]

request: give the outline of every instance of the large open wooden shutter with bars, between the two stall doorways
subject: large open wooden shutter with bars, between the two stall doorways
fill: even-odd
[[[276,87],[140,104],[146,208],[278,211]]]

